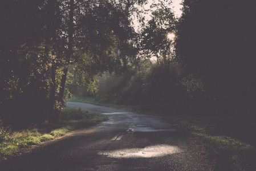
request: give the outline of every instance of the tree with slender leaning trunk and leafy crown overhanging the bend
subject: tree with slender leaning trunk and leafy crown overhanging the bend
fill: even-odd
[[[74,63],[76,76],[87,83],[91,83],[94,76],[101,72],[113,72],[127,64],[128,46],[131,44],[128,41],[133,34],[129,22],[130,6],[128,2],[76,1],[75,4],[70,1],[68,50],[60,82],[59,104],[63,104],[71,63]],[[59,111],[56,113],[58,118]]]

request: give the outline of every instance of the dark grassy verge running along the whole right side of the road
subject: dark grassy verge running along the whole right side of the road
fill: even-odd
[[[73,97],[71,101],[118,106],[109,103],[97,103],[93,97]],[[121,107],[137,113],[159,115],[158,113],[145,112],[139,107],[125,105]],[[196,142],[204,144],[209,160],[217,161],[215,170],[256,170],[255,147],[225,133],[221,126],[223,122],[217,118],[193,115],[164,115],[164,117],[165,121],[177,129],[189,132]]]

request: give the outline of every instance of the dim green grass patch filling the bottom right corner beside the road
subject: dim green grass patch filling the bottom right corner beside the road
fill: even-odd
[[[232,170],[256,170],[256,150],[253,146],[229,136],[212,136],[208,133],[192,132],[203,141],[210,155],[217,158],[217,168],[229,165]]]

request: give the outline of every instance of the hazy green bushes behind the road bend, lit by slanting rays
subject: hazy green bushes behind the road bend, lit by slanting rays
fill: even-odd
[[[186,72],[177,63],[170,63],[168,70],[150,60],[141,60],[140,66],[130,67],[124,74],[105,74],[99,78],[99,91],[92,103],[140,105],[144,110],[160,109],[163,113],[185,112],[190,101],[186,89],[180,84],[185,76]],[[78,89],[82,91],[84,87]],[[190,93],[200,94],[196,91],[198,89],[192,89]],[[81,98],[77,100],[83,100]]]

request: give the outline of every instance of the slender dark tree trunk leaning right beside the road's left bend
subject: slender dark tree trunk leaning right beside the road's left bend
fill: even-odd
[[[60,81],[60,89],[59,89],[59,98],[58,103],[61,107],[64,104],[63,97],[65,91],[65,84],[67,80],[67,72],[68,72],[68,64],[70,59],[72,58],[72,48],[73,48],[73,34],[74,34],[74,0],[70,0],[70,14],[69,14],[70,21],[68,22],[68,52],[67,52],[67,62],[63,68],[62,80]],[[55,111],[55,122],[59,120],[59,113],[61,108]]]

